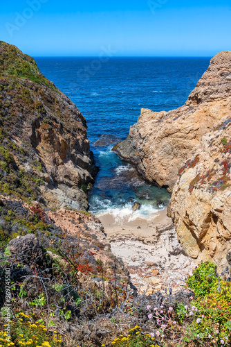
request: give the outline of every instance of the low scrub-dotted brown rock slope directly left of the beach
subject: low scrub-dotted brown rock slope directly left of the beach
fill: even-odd
[[[30,206],[1,195],[0,207],[1,257],[1,248],[10,241],[15,262],[41,266],[49,250],[49,257],[61,262],[66,273],[75,268],[87,275],[93,286],[95,281],[102,285],[102,266],[107,279],[115,278],[116,268],[118,285],[129,284],[127,267],[113,255],[104,227],[91,213],[71,208],[46,211],[38,203]]]

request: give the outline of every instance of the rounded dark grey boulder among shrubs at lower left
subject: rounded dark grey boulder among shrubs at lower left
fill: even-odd
[[[43,253],[39,245],[39,240],[34,234],[28,234],[16,239],[12,239],[9,244],[10,253],[17,255],[19,259],[28,262],[40,262]]]

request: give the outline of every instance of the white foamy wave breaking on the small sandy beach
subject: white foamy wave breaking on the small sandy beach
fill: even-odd
[[[136,219],[149,219],[154,217],[154,214],[158,212],[154,206],[149,204],[142,204],[140,210],[133,212],[132,203],[127,203],[124,207],[111,207],[107,210],[103,210],[98,213],[98,217],[104,216],[105,214],[111,214],[115,219],[115,223],[122,224],[124,219],[127,219],[128,222],[135,221]]]

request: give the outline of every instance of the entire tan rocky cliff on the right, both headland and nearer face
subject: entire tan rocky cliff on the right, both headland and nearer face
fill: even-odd
[[[210,62],[185,105],[141,110],[115,150],[173,192],[168,214],[188,255],[223,268],[231,248],[231,51]]]

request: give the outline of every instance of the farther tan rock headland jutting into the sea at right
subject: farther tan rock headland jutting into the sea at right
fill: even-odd
[[[178,169],[201,149],[201,137],[229,117],[230,73],[231,51],[218,53],[185,105],[169,112],[142,109],[127,139],[114,150],[147,180],[172,192]]]

